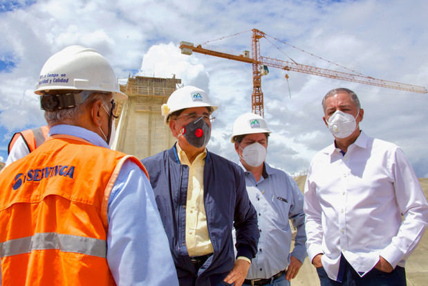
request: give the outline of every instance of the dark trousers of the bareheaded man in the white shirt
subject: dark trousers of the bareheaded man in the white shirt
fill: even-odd
[[[342,261],[344,260],[344,261]],[[360,277],[352,266],[344,259],[341,258],[341,268],[343,271],[342,282],[337,282],[328,278],[326,271],[323,267],[317,268],[319,282],[321,286],[406,286],[406,273],[403,267],[397,266],[391,273],[386,273],[378,269],[371,269],[369,273]]]

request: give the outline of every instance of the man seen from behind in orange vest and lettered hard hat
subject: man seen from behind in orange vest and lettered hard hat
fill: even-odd
[[[0,175],[2,285],[178,285],[145,167],[109,149],[127,98],[109,62],[68,46],[35,93],[50,131]]]

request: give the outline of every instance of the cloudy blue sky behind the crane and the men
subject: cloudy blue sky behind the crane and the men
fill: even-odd
[[[425,0],[0,0],[0,161],[12,134],[46,124],[33,91],[41,66],[66,46],[100,51],[120,82],[175,74],[207,91],[219,107],[207,148],[237,162],[230,136],[234,120],[251,111],[251,65],[182,55],[180,41],[239,55],[251,51],[257,28],[268,35],[260,40],[265,57],[428,87],[427,11]],[[428,93],[275,68],[261,80],[271,166],[303,174],[333,143],[321,100],[337,87],[359,96],[366,134],[399,145],[416,175],[428,177]]]

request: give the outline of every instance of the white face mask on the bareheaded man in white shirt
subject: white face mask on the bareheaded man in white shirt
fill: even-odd
[[[358,110],[357,116],[360,114]],[[352,114],[344,113],[343,111],[336,110],[335,113],[328,118],[328,129],[331,134],[336,138],[346,138],[353,134],[355,128],[357,128],[357,122]]]

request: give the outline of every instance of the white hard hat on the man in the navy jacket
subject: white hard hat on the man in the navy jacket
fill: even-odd
[[[211,103],[210,98],[208,98],[205,91],[198,89],[197,87],[187,85],[186,87],[181,87],[171,93],[167,103],[163,104],[160,108],[162,116],[165,116],[163,122],[168,124],[169,116],[175,111],[192,107],[211,107],[212,111],[218,108],[216,105]]]

